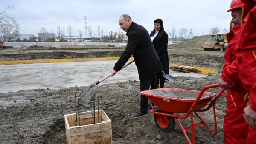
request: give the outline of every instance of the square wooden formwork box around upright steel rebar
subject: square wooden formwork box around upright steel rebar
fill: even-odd
[[[80,126],[76,125],[76,113],[64,115],[68,144],[111,144],[111,120],[103,110],[99,110],[99,122],[96,113],[94,123],[93,113],[80,113]]]

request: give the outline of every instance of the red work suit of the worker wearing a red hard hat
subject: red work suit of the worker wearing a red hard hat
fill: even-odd
[[[221,79],[233,84],[233,87],[226,90],[227,114],[223,124],[225,144],[244,144],[247,139],[248,124],[243,115],[246,107],[244,96],[247,92],[239,79],[238,68],[234,64],[231,65],[236,60],[235,48],[240,29],[241,25],[238,25],[232,28],[230,33],[226,34],[228,47],[225,52]]]

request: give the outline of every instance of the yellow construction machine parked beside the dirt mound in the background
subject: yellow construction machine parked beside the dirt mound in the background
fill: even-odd
[[[230,31],[234,27],[234,23],[230,23]],[[211,42],[205,42],[204,45],[201,46],[201,48],[204,49],[204,51],[220,51],[221,48],[223,51],[226,51],[227,49],[227,38],[226,34],[212,34],[212,41]]]

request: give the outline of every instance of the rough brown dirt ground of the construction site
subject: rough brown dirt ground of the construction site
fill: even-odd
[[[205,38],[206,37],[206,38]],[[202,37],[207,39],[207,36]],[[198,38],[198,37],[196,37]],[[194,41],[193,41],[194,40]],[[169,45],[169,59],[172,63],[188,66],[212,68],[221,71],[224,62],[224,51],[204,51],[198,45],[200,40],[186,41],[186,45]],[[201,43],[202,43],[201,42]],[[192,45],[193,44],[193,45]],[[189,46],[190,45],[190,46]],[[79,56],[119,56],[123,48],[68,48],[63,46],[58,49],[62,54],[59,57],[69,58],[72,55]],[[20,52],[17,52],[20,51]],[[54,52],[53,52],[54,51]],[[37,56],[52,56],[55,58],[57,50],[45,48],[45,50],[26,51],[16,49],[1,50],[0,60],[21,59],[19,54],[34,54]],[[79,51],[79,52],[77,52]],[[36,55],[40,53],[40,55]],[[52,55],[50,55],[52,54]],[[69,55],[70,54],[70,55]],[[18,56],[14,56],[18,55]],[[102,56],[104,57],[104,56]],[[29,57],[26,57],[29,59]],[[201,90],[206,85],[218,83],[221,74],[209,74],[204,78],[177,77],[176,81],[166,82],[165,87],[183,88],[189,90]],[[21,90],[17,92],[0,93],[0,144],[67,144],[65,133],[64,114],[75,113],[74,93],[79,95],[84,87],[51,90],[35,89]],[[97,85],[100,109],[103,109],[112,121],[113,144],[186,144],[180,127],[176,121],[174,130],[169,133],[159,130],[154,122],[154,115],[134,119],[131,114],[140,108],[140,88],[138,81],[127,81],[107,85]],[[220,88],[207,90],[218,93]],[[171,106],[170,106],[171,107]],[[179,107],[177,107],[178,109]],[[223,121],[226,108],[224,94],[216,102],[216,117],[218,134],[212,135],[204,127],[195,129],[195,141],[198,144],[221,144],[223,140]],[[89,111],[92,109],[84,109]],[[199,112],[206,124],[214,130],[214,116],[212,109]],[[195,118],[195,117],[194,117]],[[180,119],[183,126],[191,125],[190,117]],[[195,118],[195,121],[198,119]],[[191,131],[188,131],[191,138]]]

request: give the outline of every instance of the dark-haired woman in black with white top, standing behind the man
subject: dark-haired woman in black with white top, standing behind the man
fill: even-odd
[[[154,48],[159,56],[160,62],[163,65],[163,71],[166,74],[169,74],[169,57],[167,52],[168,46],[168,34],[164,31],[163,28],[163,20],[156,19],[154,20],[154,29],[150,33],[151,41],[154,45]],[[160,81],[160,88],[164,87],[165,79],[162,76],[162,73],[157,74],[157,85],[159,87]]]

